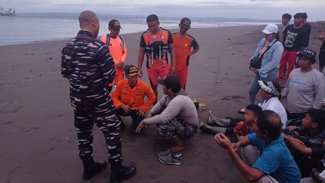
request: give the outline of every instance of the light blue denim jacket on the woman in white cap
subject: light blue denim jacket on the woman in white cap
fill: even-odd
[[[261,68],[259,70],[260,77],[266,78],[269,72],[279,72],[283,46],[280,41],[275,41],[276,40],[269,44],[269,46],[272,45],[272,47],[264,53]],[[260,40],[259,46],[256,48],[254,56],[252,58],[259,55],[260,49],[263,47],[264,43],[265,38]],[[278,75],[279,73],[275,74]]]

